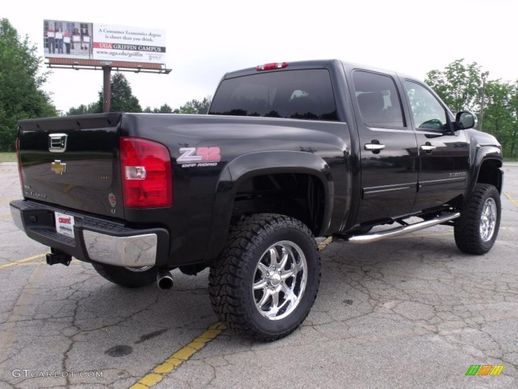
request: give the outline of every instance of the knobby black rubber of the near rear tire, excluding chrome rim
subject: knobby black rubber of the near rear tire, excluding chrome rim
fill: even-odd
[[[268,247],[292,241],[307,261],[307,283],[300,302],[284,318],[270,320],[255,307],[255,268]],[[320,283],[320,254],[313,234],[301,221],[277,214],[256,214],[231,227],[226,246],[210,268],[209,294],[220,321],[238,334],[274,341],[291,334],[308,316]]]

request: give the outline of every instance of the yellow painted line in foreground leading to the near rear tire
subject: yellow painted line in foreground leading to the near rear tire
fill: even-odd
[[[130,389],[147,389],[162,381],[167,374],[189,360],[199,350],[211,340],[216,339],[226,326],[221,323],[212,324],[203,334],[197,336],[191,343],[186,344],[176,353],[169,356],[164,362],[156,365],[149,373],[142,377],[138,382],[130,386]]]

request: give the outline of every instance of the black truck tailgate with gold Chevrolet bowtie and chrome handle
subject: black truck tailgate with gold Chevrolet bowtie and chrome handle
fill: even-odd
[[[108,113],[20,121],[25,198],[123,218],[121,117]]]

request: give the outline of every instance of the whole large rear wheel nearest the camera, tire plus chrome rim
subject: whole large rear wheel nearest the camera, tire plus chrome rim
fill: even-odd
[[[246,217],[231,229],[210,268],[212,307],[241,335],[272,341],[306,318],[320,282],[320,255],[301,221],[276,214]]]

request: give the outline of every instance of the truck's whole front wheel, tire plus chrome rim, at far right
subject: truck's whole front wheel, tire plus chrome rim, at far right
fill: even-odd
[[[489,184],[477,184],[455,220],[457,247],[468,254],[485,254],[495,243],[500,227],[500,193]]]

